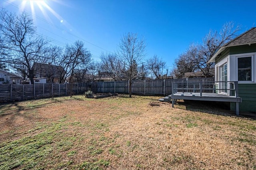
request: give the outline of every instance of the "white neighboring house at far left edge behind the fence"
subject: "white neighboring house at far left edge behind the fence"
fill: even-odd
[[[2,83],[20,84],[21,79],[22,77],[16,74],[0,69],[0,84]]]

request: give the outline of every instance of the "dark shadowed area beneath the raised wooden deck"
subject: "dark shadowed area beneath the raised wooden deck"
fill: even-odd
[[[186,110],[189,111],[198,111],[215,115],[249,118],[256,120],[256,113],[240,112],[239,115],[236,115],[235,111],[230,111],[229,102],[178,100],[176,105],[183,106]]]

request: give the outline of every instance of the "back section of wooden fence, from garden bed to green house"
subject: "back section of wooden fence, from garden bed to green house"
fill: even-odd
[[[158,80],[134,80],[132,81],[132,93],[144,95],[170,95],[172,94],[172,82],[214,82],[214,77],[194,79],[158,79]],[[94,93],[129,93],[129,81],[111,81],[92,83]]]

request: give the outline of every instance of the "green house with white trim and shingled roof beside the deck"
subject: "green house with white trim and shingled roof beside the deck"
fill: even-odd
[[[222,46],[208,61],[215,62],[215,81],[238,81],[240,111],[256,112],[256,27]],[[229,89],[228,83],[216,83],[219,89]],[[219,90],[218,93],[229,93]],[[230,103],[234,110],[234,103]]]

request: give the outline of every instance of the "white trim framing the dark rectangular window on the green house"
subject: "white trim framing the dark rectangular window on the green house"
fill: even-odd
[[[255,54],[256,53],[243,53],[243,54],[235,54],[232,56],[236,57],[236,81],[238,81],[238,58],[244,58],[244,57],[252,57],[252,81],[238,81],[238,83],[254,83],[254,67],[255,67]]]

